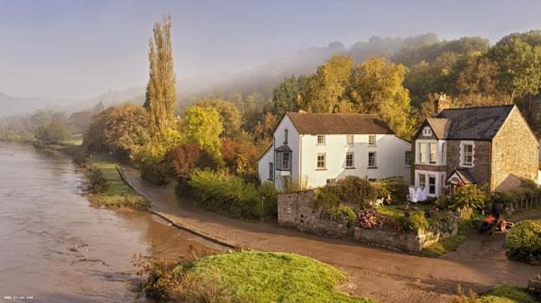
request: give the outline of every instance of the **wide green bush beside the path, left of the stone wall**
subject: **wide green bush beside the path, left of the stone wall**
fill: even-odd
[[[243,218],[264,216],[260,192],[241,177],[196,170],[190,175],[188,186],[197,202],[209,209]]]

